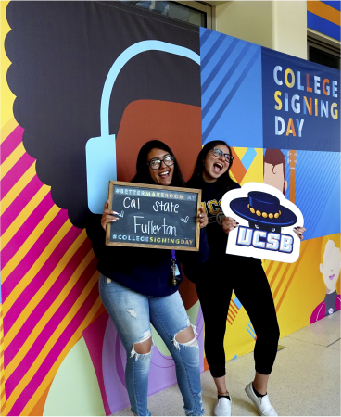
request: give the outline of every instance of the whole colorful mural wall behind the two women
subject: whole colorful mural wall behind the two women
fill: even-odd
[[[236,181],[275,184],[300,208],[307,233],[298,261],[263,261],[282,336],[322,311],[326,288],[339,299],[340,269],[326,271],[340,248],[339,72],[129,4],[0,7],[2,415],[128,406],[125,352],[98,295],[86,233],[98,210],[89,202],[101,199],[88,181],[105,160],[105,175],[129,181],[150,138],[172,147],[186,179],[202,144],[225,139]],[[187,279],[181,294],[204,370],[204,323]],[[256,338],[235,296],[227,324],[233,360]],[[149,395],[176,383],[153,337]]]

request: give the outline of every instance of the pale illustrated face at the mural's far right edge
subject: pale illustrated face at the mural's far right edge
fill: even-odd
[[[320,271],[323,274],[323,282],[327,287],[327,293],[335,291],[340,269],[340,248],[337,248],[332,240],[328,240],[324,248],[323,263],[320,264]]]

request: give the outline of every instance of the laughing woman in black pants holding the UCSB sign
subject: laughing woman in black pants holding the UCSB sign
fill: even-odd
[[[246,393],[260,415],[277,416],[267,395],[279,339],[271,289],[259,259],[225,253],[227,235],[238,225],[232,218],[225,217],[220,207],[226,192],[240,188],[230,177],[232,163],[230,146],[223,141],[209,142],[200,151],[194,173],[187,183],[188,187],[202,190],[202,205],[209,219],[206,227],[209,259],[197,269],[195,284],[205,320],[206,359],[218,390],[214,415],[231,415],[232,400],[225,382],[223,342],[234,290],[257,334],[254,349],[256,374],[254,381],[247,385]],[[304,228],[297,228],[300,239],[304,231]]]

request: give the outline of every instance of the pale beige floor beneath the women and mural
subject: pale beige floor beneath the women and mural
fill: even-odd
[[[281,416],[340,416],[340,311],[280,339],[284,349],[277,354],[269,383],[272,405]],[[253,379],[253,354],[227,362],[227,386],[232,396],[232,414],[258,415],[245,394]],[[212,416],[216,390],[208,371],[201,374],[205,415]],[[148,399],[154,416],[182,416],[182,397],[177,385]],[[131,416],[130,408],[116,414]]]

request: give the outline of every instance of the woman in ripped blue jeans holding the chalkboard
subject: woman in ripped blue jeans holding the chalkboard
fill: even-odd
[[[142,146],[136,162],[134,183],[183,187],[179,165],[171,149],[158,140]],[[178,288],[181,282],[179,262],[184,270],[195,269],[208,257],[204,227],[208,219],[200,210],[199,252],[171,251],[145,247],[105,245],[105,230],[118,217],[108,209],[87,230],[93,242],[97,269],[100,272],[99,292],[109,316],[116,325],[127,352],[126,387],[132,412],[151,415],[147,408],[148,372],[153,346],[151,324],[168,347],[175,362],[176,376],[183,396],[186,415],[200,416],[201,400],[199,349],[195,331],[183,306]],[[176,280],[171,274],[175,261]]]

